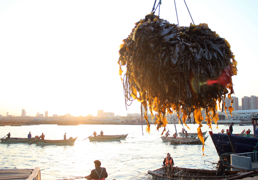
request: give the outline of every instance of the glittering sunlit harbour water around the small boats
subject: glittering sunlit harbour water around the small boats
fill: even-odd
[[[187,124],[191,129],[185,129],[188,133],[196,133],[197,124]],[[177,124],[179,133],[182,125]],[[1,126],[0,137],[11,133],[11,137],[27,137],[31,132],[32,137],[44,133],[45,139],[63,139],[64,133],[69,137],[78,137],[73,146],[36,145],[36,144],[0,144],[0,169],[34,169],[40,167],[42,180],[67,179],[84,177],[94,169],[95,160],[101,161],[101,167],[107,169],[108,179],[143,180],[152,179],[146,175],[148,170],[162,167],[167,153],[173,157],[175,166],[216,170],[216,165],[206,161],[217,162],[219,160],[215,146],[209,133],[204,145],[204,156],[202,145],[171,145],[163,143],[160,139],[163,128],[156,130],[151,125],[150,134],[145,131],[146,125],[30,125],[30,126]],[[143,131],[142,131],[143,129]],[[170,136],[175,133],[174,124],[167,125]],[[228,126],[212,125],[213,133],[218,133]],[[233,126],[233,133],[241,133],[243,129],[252,130],[253,126]],[[100,131],[104,135],[127,134],[125,140],[112,142],[90,142],[90,135]],[[202,132],[211,131],[206,124]],[[85,140],[84,140],[85,139]],[[206,160],[206,161],[204,161]]]

